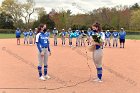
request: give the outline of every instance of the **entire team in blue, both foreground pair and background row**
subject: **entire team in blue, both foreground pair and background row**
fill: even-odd
[[[61,37],[62,46],[66,45],[66,42],[69,43],[69,46],[88,46],[90,51],[92,51],[93,62],[97,70],[97,79],[94,81],[102,82],[102,58],[103,58],[103,48],[109,47],[118,47],[118,40],[120,41],[120,48],[125,47],[125,36],[126,32],[123,28],[120,29],[120,32],[113,30],[112,33],[107,30],[102,31],[99,23],[95,23],[88,28],[87,31],[84,30],[75,30],[71,28],[66,31],[62,29],[59,31],[54,28],[52,31],[54,38],[54,46],[58,45],[58,38]],[[40,24],[38,28],[35,28],[34,31],[30,29],[29,31],[24,31],[24,44],[36,44],[38,49],[38,73],[40,80],[50,79],[48,75],[48,56],[51,55],[50,48],[50,30],[47,30],[45,24]],[[19,28],[16,30],[17,45],[20,45],[21,31]],[[113,43],[111,43],[111,38]],[[73,42],[73,39],[76,39],[76,42]],[[75,43],[75,44],[74,44]],[[44,75],[42,74],[42,69],[44,67]]]

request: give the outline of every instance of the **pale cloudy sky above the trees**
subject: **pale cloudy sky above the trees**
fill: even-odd
[[[0,0],[0,4],[3,0]],[[25,2],[26,0],[18,0]],[[117,5],[133,5],[135,3],[140,4],[140,0],[35,0],[36,7],[44,7],[47,11],[55,9],[57,11],[61,9],[70,9],[72,14],[86,13],[87,11],[97,9],[100,7],[115,7]]]

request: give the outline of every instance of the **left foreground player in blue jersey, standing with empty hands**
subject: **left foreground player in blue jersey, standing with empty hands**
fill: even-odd
[[[39,72],[39,79],[45,80],[50,79],[48,75],[48,52],[51,54],[50,51],[50,43],[48,40],[47,35],[44,33],[44,25],[41,24],[38,28],[38,34],[36,35],[36,44],[38,48],[38,72]],[[44,64],[44,76],[42,75],[42,65]]]

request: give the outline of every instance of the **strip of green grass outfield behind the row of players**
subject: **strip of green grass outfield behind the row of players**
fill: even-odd
[[[23,37],[23,35],[21,35]],[[0,39],[15,38],[15,34],[0,34]],[[127,35],[126,39],[140,40],[140,35]]]

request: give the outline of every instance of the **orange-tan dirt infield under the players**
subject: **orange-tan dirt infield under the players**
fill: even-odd
[[[35,45],[16,45],[0,39],[0,93],[140,93],[140,41],[126,47],[105,48],[103,82],[94,82],[92,53],[85,47],[53,46],[49,56],[50,80],[40,81]]]

